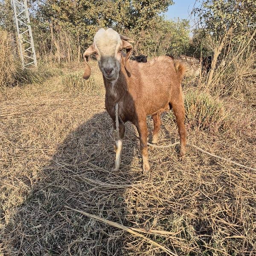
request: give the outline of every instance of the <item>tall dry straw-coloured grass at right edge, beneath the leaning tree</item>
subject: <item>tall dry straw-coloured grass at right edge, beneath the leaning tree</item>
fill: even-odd
[[[208,90],[215,95],[229,96],[243,93],[253,96],[256,92],[256,44],[253,40],[255,32],[241,34],[239,40],[230,38],[224,49],[220,64],[215,70]],[[208,78],[209,79],[209,78]]]

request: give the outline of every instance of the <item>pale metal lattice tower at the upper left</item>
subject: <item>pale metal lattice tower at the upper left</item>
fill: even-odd
[[[22,67],[37,67],[27,0],[11,0],[11,3],[14,10]]]

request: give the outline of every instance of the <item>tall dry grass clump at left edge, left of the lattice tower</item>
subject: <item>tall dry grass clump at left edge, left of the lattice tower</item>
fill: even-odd
[[[16,68],[10,36],[5,30],[0,29],[0,87],[14,82],[13,74]]]

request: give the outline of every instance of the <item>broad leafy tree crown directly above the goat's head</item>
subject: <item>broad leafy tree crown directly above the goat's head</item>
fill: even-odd
[[[145,30],[170,4],[172,0],[46,0],[39,5],[38,15],[44,22],[54,17],[88,46],[99,27]]]

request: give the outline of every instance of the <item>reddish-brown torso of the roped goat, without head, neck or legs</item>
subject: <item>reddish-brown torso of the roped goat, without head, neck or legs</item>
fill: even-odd
[[[169,107],[169,102],[181,93],[180,81],[185,72],[181,62],[169,56],[153,58],[147,63],[130,61],[130,92],[147,114]]]

